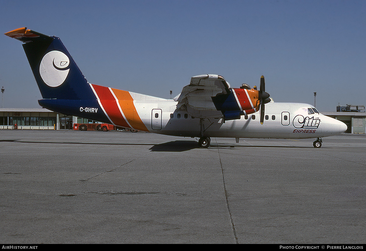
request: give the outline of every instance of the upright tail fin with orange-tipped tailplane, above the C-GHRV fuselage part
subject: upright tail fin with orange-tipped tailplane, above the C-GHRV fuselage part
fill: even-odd
[[[60,38],[27,30],[26,27],[5,35],[25,43],[23,49],[44,99],[96,100]]]

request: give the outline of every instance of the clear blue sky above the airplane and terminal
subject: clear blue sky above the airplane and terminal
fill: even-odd
[[[7,1],[0,30],[59,37],[89,83],[161,98],[190,78],[259,86],[320,112],[366,105],[366,1]],[[22,42],[0,37],[4,108],[38,108]]]

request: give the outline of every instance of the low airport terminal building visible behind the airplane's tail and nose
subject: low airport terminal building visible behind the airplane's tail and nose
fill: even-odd
[[[353,107],[356,107],[356,109],[352,109]],[[337,112],[322,112],[322,114],[347,124],[346,133],[366,133],[364,106],[338,106]],[[74,123],[90,124],[98,122],[75,116],[67,116],[44,108],[0,108],[0,130],[15,129],[15,124],[21,130],[72,130]]]

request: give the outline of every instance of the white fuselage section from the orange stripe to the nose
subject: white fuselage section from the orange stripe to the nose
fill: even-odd
[[[134,101],[136,110],[148,130],[157,134],[184,137],[224,138],[321,138],[346,131],[343,122],[321,113],[308,114],[309,104],[270,102],[265,107],[264,124],[259,112],[241,116],[238,120],[223,118],[200,119],[176,108],[173,100]]]

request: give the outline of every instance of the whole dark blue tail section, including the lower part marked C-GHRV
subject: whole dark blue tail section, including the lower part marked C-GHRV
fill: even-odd
[[[23,48],[43,97],[38,101],[42,107],[110,123],[93,89],[60,38],[49,37],[27,28],[16,29],[5,35],[25,43]],[[82,108],[85,107],[94,108],[90,109],[93,112],[83,113]]]

